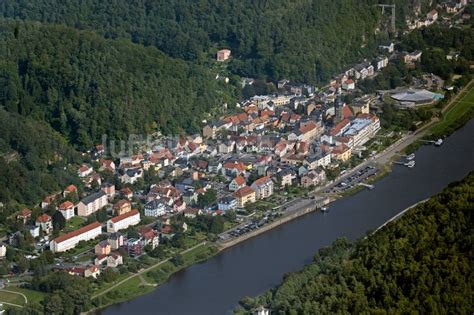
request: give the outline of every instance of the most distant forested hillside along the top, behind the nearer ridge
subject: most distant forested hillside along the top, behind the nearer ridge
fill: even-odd
[[[402,26],[419,1],[395,2]],[[235,74],[314,83],[376,50],[374,30],[384,20],[377,3],[22,0],[3,2],[0,15],[92,29],[106,38],[155,46],[185,60],[208,59],[227,47],[234,56],[229,68]]]

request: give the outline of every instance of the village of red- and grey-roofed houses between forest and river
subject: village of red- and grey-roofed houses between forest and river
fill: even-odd
[[[455,13],[451,7],[446,4],[446,11]],[[437,19],[433,10],[408,25],[425,27]],[[373,155],[367,144],[381,130],[376,106],[381,95],[350,103],[345,97],[389,63],[415,67],[422,58],[421,51],[397,51],[393,42],[379,48],[378,57],[353,65],[323,89],[276,82],[277,93],[239,103],[233,113],[205,122],[201,134],[155,135],[134,154],[119,157],[111,155],[108,143],[95,146],[85,153],[90,163],[77,169],[82,185],[45,196],[37,209],[19,211],[16,220],[25,233],[19,229],[5,243],[19,249],[34,239],[28,259],[50,250],[51,269],[97,278],[161,246],[215,240],[249,215],[278,208],[289,199],[282,195],[323,186]],[[230,54],[225,50],[217,58],[225,61]],[[253,82],[242,79],[243,86]],[[416,100],[399,105],[411,106],[407,103]],[[6,255],[1,245],[0,257]]]

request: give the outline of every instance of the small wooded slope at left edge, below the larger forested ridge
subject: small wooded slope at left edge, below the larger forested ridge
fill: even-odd
[[[0,109],[0,135],[0,200],[7,205],[36,204],[78,181],[69,163],[81,157],[48,125]]]

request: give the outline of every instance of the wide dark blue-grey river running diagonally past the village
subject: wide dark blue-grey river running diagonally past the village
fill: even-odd
[[[395,165],[388,176],[375,183],[374,190],[335,201],[327,214],[313,212],[231,247],[176,273],[155,291],[100,313],[231,314],[240,298],[278,285],[285,273],[310,263],[318,249],[336,238],[364,236],[473,169],[471,120],[441,147],[421,147],[416,152],[415,168]]]

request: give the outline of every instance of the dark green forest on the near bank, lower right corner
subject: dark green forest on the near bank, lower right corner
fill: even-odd
[[[379,232],[321,249],[312,264],[241,304],[272,314],[471,314],[472,209],[474,172]]]

